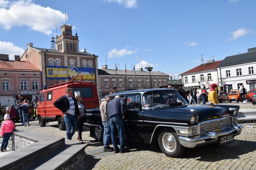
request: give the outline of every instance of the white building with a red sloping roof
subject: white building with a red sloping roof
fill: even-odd
[[[191,70],[181,74],[184,89],[196,89],[201,92],[202,87],[209,89],[210,85],[218,84],[218,74],[216,71],[217,66],[222,62],[220,61],[207,61]]]

